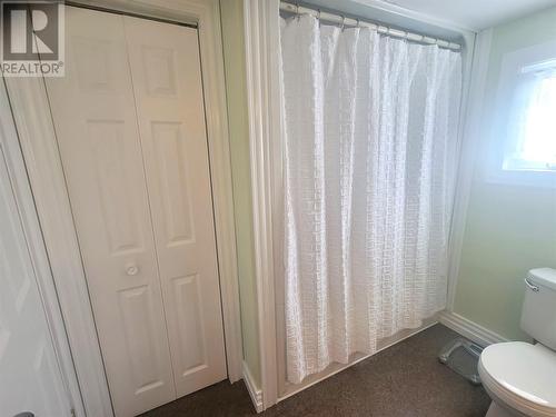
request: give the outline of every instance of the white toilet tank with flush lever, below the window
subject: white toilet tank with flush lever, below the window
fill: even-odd
[[[525,279],[522,329],[556,350],[556,269],[532,269]]]

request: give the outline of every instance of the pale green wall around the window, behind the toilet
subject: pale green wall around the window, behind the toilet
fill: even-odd
[[[526,271],[556,268],[556,190],[490,183],[483,176],[480,156],[486,155],[489,141],[500,139],[489,121],[504,54],[550,40],[556,40],[556,8],[494,29],[483,147],[477,155],[456,289],[455,312],[509,339],[526,338],[519,329]]]

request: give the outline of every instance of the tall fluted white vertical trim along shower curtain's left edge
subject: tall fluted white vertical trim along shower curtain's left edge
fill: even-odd
[[[280,140],[279,0],[244,0],[247,110],[252,187],[255,275],[259,318],[262,408],[278,399],[272,236],[275,158]]]

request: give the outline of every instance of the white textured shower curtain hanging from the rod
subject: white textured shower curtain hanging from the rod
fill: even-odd
[[[458,52],[281,21],[287,379],[445,308]]]

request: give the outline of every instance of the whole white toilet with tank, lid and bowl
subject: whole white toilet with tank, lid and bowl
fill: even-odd
[[[486,417],[556,417],[556,270],[532,269],[525,279],[522,329],[535,345],[488,346],[478,370],[493,399]]]

